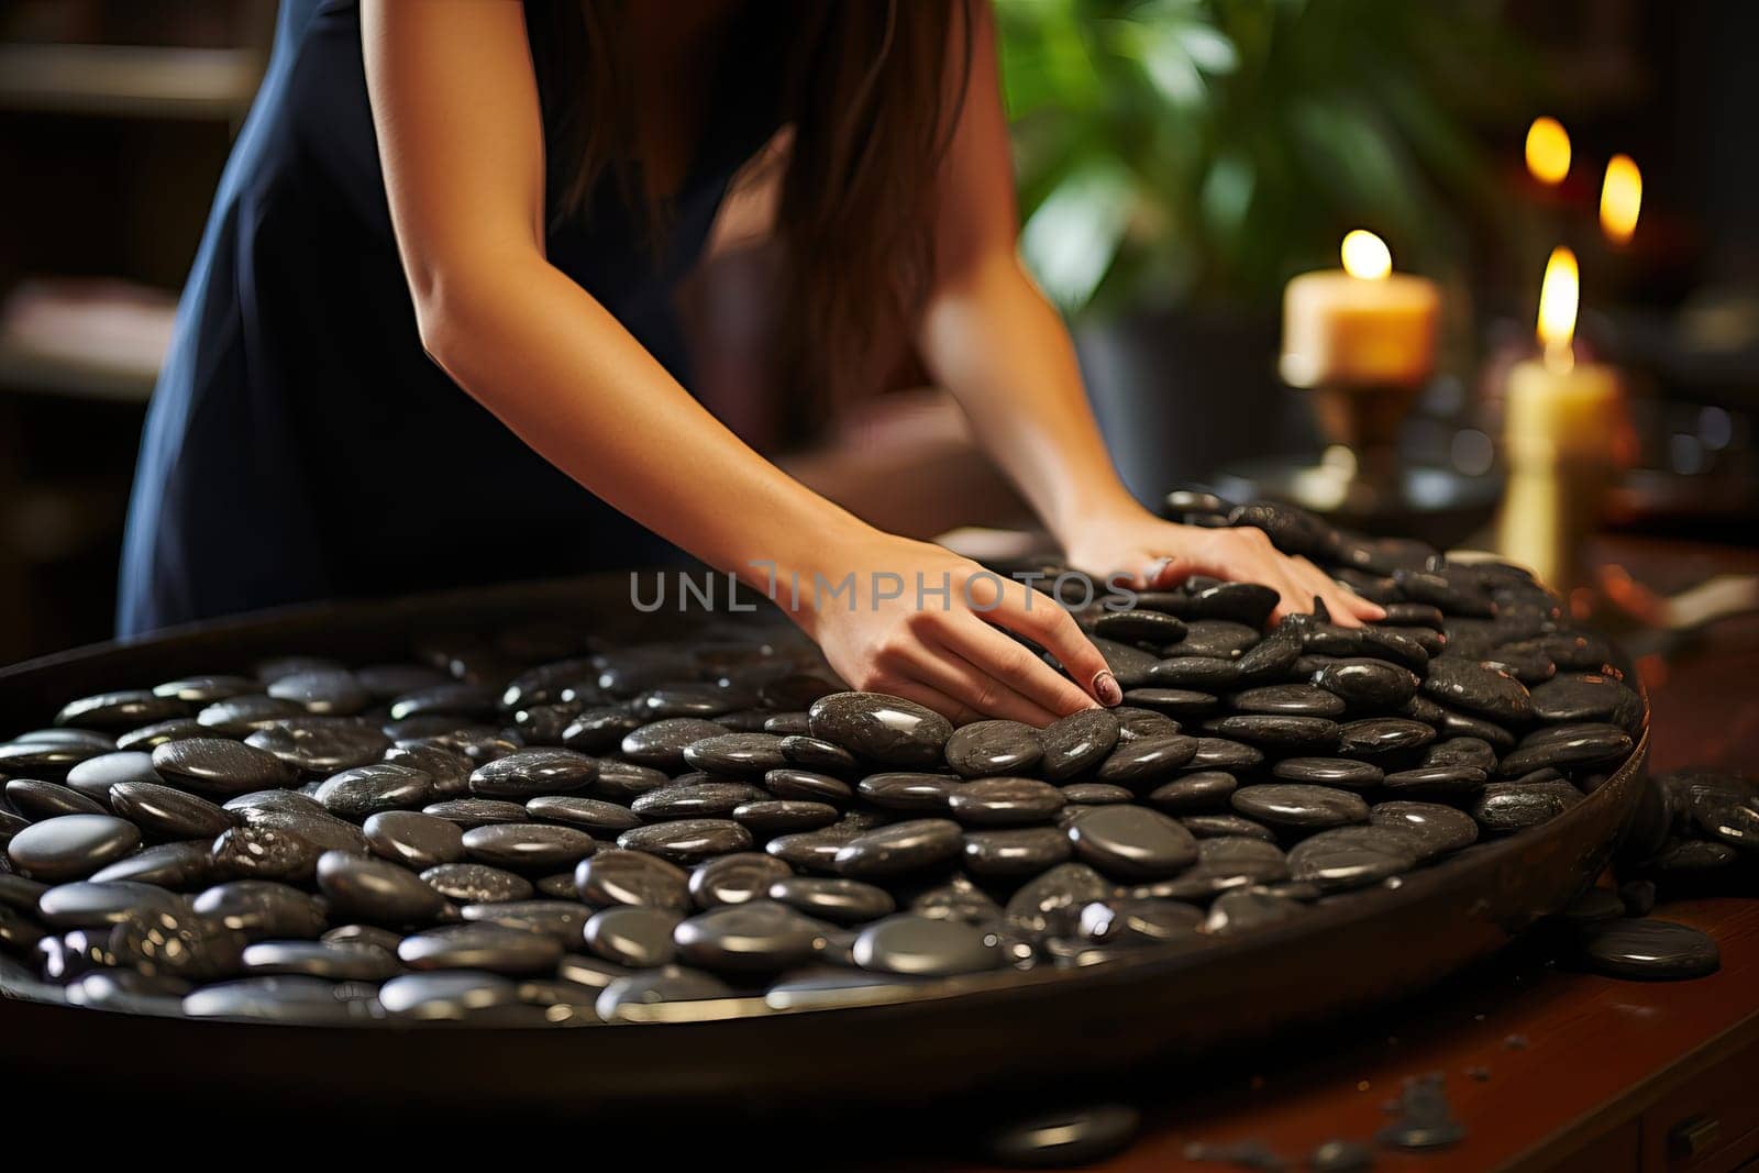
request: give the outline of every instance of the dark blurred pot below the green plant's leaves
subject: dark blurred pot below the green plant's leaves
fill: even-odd
[[[1224,464],[1317,452],[1312,413],[1277,378],[1274,315],[1157,310],[1075,324],[1087,397],[1131,494],[1157,508]]]

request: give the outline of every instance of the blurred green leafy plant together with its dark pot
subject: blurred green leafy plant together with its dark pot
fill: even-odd
[[[1530,76],[1463,0],[997,0],[1022,255],[1131,491],[1312,443],[1275,378],[1295,273],[1347,229],[1451,281],[1495,190],[1472,127]]]

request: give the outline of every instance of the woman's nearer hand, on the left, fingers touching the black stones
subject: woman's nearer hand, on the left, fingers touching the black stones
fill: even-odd
[[[1047,594],[927,542],[865,529],[827,542],[772,598],[851,688],[915,700],[955,723],[1048,725],[1124,695],[1105,658]],[[765,584],[767,586],[767,584]],[[1008,633],[1068,668],[1059,675]]]

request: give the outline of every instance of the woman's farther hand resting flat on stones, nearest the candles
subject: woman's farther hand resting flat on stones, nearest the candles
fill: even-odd
[[[1281,554],[1263,529],[1179,526],[1131,506],[1082,526],[1068,543],[1069,565],[1094,575],[1122,572],[1138,589],[1159,591],[1191,575],[1261,582],[1282,601],[1275,616],[1312,610],[1325,600],[1332,621],[1354,628],[1386,616],[1381,607],[1337,582],[1305,557]]]

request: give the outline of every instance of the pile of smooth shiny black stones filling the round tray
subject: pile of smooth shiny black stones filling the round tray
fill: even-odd
[[[274,1022],[908,997],[1397,886],[1631,753],[1638,693],[1525,572],[1171,505],[1263,529],[1384,623],[1270,626],[1274,591],[1212,579],[1091,600],[1124,703],[1045,730],[848,691],[755,617],[118,682],[0,744],[0,981]]]

